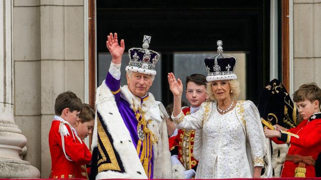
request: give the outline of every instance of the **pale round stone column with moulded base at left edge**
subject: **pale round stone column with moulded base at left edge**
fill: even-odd
[[[27,144],[13,118],[12,1],[0,2],[0,178],[39,178],[20,157]]]

